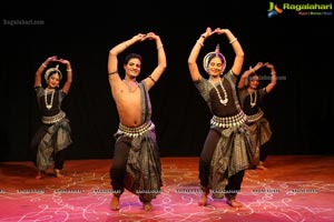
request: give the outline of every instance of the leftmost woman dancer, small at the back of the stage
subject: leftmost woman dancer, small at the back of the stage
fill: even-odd
[[[45,69],[50,63],[56,63],[56,67]],[[66,65],[67,78],[62,89],[59,89],[62,73],[59,64]],[[45,72],[47,87],[41,84],[41,75]],[[37,167],[36,179],[41,179],[46,175],[46,170],[49,169],[55,161],[55,175],[61,178],[66,154],[65,151],[72,143],[70,133],[71,128],[65,111],[61,109],[61,102],[68,95],[72,83],[72,69],[68,60],[58,59],[57,56],[49,57],[38,68],[35,75],[35,91],[39,110],[41,112],[41,123],[36,132],[31,149],[36,154],[33,160]]]

